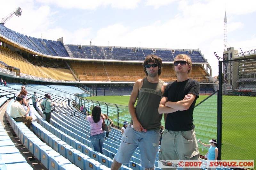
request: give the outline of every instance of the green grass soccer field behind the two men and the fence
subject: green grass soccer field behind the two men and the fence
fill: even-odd
[[[196,104],[204,100],[207,96],[200,95]],[[95,96],[86,99],[115,103],[118,105],[128,106],[130,96]],[[206,103],[206,102],[205,102]],[[217,98],[214,99],[214,108],[217,106]],[[222,108],[222,159],[255,159],[255,139],[256,139],[256,114],[255,110],[256,97],[246,96],[223,96]],[[201,105],[201,104],[200,104]],[[200,106],[199,105],[199,106]],[[205,105],[202,103],[202,106]],[[194,111],[194,123],[197,138],[203,139],[207,143],[211,138],[217,137],[217,108],[212,112],[213,118],[209,117],[208,122],[202,123],[198,116],[209,115],[211,108],[202,110],[202,107],[196,107]],[[201,109],[201,112],[198,110]],[[210,115],[210,116],[212,116]],[[211,122],[209,122],[209,120]],[[163,121],[162,121],[163,122]],[[212,127],[209,127],[212,125]],[[215,134],[215,135],[214,135]],[[202,151],[202,145],[199,144],[199,151],[205,154],[207,149]],[[255,160],[254,160],[255,161]]]

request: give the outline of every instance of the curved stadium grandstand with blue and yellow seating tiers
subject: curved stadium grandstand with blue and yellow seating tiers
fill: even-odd
[[[193,69],[189,78],[199,81],[200,94],[210,95],[194,111],[197,137],[204,141],[217,138],[216,79],[212,78],[211,66],[199,49],[108,47],[93,46],[91,42],[90,45],[65,44],[63,37],[57,41],[35,38],[0,24],[0,77],[7,82],[7,86],[1,85],[0,89],[0,109],[6,110],[5,114],[0,114],[0,169],[14,169],[15,166],[24,169],[110,169],[122,139],[119,124],[131,119],[128,107],[84,97],[130,95],[135,81],[145,77],[142,63],[149,54],[162,58],[160,79],[165,82],[176,80],[173,70],[176,55],[187,54],[191,57]],[[237,54],[234,58],[239,56],[234,54]],[[238,89],[237,92],[251,88],[246,81],[256,82],[255,60],[239,64],[241,70],[237,84],[232,86]],[[230,77],[230,69],[227,70]],[[235,82],[234,78],[232,80]],[[230,90],[230,78],[226,81]],[[37,117],[37,122],[31,125],[32,131],[10,116],[12,99],[22,82],[27,83],[28,97],[33,92],[37,92],[39,97],[38,111],[31,107]],[[54,103],[51,123],[44,120],[40,107],[45,93],[51,94]],[[93,106],[100,105],[102,113],[108,114],[114,122],[110,137],[105,139],[103,154],[92,149],[90,126],[84,119],[86,115],[79,112],[81,105],[86,105],[89,113]],[[204,170],[207,149],[200,149],[201,169]],[[12,157],[17,159],[10,159]],[[155,166],[160,170],[158,157]],[[139,150],[133,153],[129,165],[122,166],[124,170],[141,168]],[[224,170],[221,166],[218,168]]]

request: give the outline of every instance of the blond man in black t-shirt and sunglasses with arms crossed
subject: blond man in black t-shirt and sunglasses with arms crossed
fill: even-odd
[[[173,65],[177,80],[167,85],[158,108],[165,117],[159,160],[199,160],[193,111],[200,85],[188,78],[192,69],[188,55],[177,55]]]

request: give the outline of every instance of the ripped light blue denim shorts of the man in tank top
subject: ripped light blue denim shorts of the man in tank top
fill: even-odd
[[[155,167],[159,137],[159,129],[137,132],[128,125],[124,131],[122,142],[114,159],[118,163],[128,164],[133,152],[139,147],[141,166],[144,168],[153,168]]]

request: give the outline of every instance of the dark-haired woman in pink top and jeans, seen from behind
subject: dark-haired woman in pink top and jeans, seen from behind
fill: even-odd
[[[105,116],[101,114],[100,106],[95,106],[92,109],[92,115],[86,117],[91,127],[91,142],[94,151],[101,154],[103,154],[103,143],[105,140],[105,132],[102,129],[102,117],[105,119]]]

